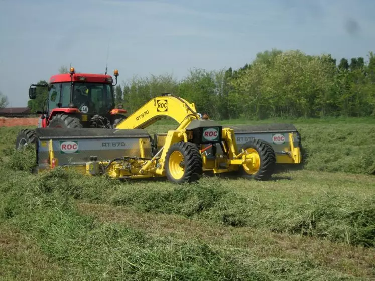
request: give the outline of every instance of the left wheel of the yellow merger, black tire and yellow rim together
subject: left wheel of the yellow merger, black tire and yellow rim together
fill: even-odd
[[[203,172],[202,156],[196,145],[186,142],[173,144],[166,155],[167,179],[174,183],[197,181]]]

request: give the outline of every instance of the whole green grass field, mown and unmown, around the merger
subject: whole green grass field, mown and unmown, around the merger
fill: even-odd
[[[0,128],[1,279],[375,279],[374,119],[287,122],[303,170],[186,186],[32,175],[20,128]]]

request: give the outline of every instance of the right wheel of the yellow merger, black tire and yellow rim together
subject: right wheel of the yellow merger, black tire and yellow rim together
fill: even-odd
[[[242,150],[246,158],[252,160],[249,164],[240,166],[241,176],[256,180],[269,180],[275,171],[276,155],[272,146],[262,139],[253,138],[245,143]]]

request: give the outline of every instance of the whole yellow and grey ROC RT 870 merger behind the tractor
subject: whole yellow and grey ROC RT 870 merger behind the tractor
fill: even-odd
[[[152,137],[145,128],[163,117],[176,120],[178,127]],[[194,103],[165,94],[148,101],[115,128],[46,127],[32,133],[37,172],[64,166],[88,175],[167,177],[184,183],[196,181],[204,172],[235,172],[267,180],[277,163],[299,164],[299,134],[294,126],[282,126],[223,128],[202,118]]]

